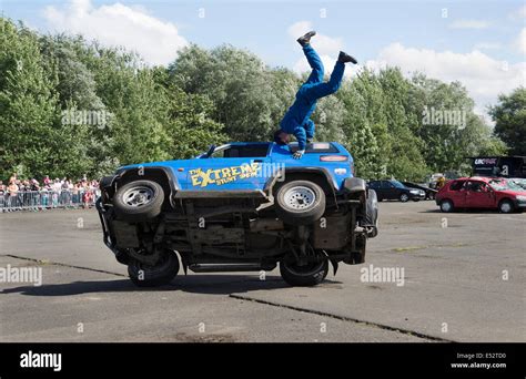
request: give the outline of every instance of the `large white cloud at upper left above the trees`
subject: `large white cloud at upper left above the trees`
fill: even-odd
[[[43,14],[50,29],[134,50],[150,64],[168,64],[188,44],[173,23],[148,14],[142,7],[117,2],[97,8],[90,0],[71,0],[60,8],[45,7]]]

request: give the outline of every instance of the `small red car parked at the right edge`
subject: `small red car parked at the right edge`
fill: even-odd
[[[436,194],[442,212],[489,208],[512,213],[526,208],[526,191],[502,177],[461,177],[447,182]]]

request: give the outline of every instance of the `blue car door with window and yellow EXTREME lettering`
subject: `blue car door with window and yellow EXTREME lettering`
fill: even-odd
[[[262,190],[265,183],[263,166],[270,162],[269,144],[255,145],[223,145],[206,158],[195,160],[188,172],[189,190],[235,191]],[[251,151],[257,152],[251,154]],[[263,153],[262,153],[263,151]],[[265,156],[262,156],[265,154]],[[255,155],[255,156],[251,156]]]

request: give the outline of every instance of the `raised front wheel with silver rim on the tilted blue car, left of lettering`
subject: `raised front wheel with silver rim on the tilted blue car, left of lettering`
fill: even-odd
[[[124,184],[113,196],[113,209],[120,219],[141,222],[155,218],[164,202],[162,186],[152,181]]]

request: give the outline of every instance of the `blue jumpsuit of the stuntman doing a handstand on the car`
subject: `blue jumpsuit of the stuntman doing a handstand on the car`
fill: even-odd
[[[327,96],[340,89],[342,84],[345,63],[336,62],[328,82],[323,82],[323,63],[316,51],[306,44],[303,52],[312,68],[311,75],[296,93],[296,100],[286,111],[280,123],[281,129],[289,134],[294,134],[299,150],[305,150],[306,139],[314,137],[314,122],[310,119],[316,109],[318,99]]]

